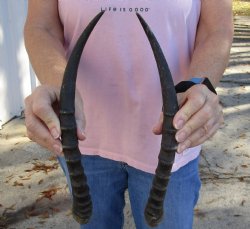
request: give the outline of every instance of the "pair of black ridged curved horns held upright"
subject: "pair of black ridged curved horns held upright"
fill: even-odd
[[[92,214],[92,202],[89,195],[86,176],[84,175],[84,169],[81,166],[81,153],[78,148],[76,134],[76,121],[74,114],[76,77],[84,46],[103,14],[104,11],[96,15],[77,40],[65,69],[60,93],[62,145],[72,186],[72,212],[73,217],[80,224],[89,222]],[[152,47],[162,89],[164,119],[161,149],[158,157],[158,166],[155,171],[152,188],[144,212],[146,222],[154,227],[161,222],[164,215],[163,202],[172,165],[174,163],[175,152],[177,150],[177,142],[175,140],[176,130],[172,123],[173,117],[179,108],[172,75],[161,47],[142,16],[138,13],[136,15]]]

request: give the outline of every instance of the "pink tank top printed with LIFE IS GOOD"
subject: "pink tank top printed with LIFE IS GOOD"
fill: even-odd
[[[83,51],[77,87],[84,101],[86,137],[80,150],[154,173],[161,136],[152,132],[162,97],[157,66],[139,12],[157,37],[175,83],[188,79],[200,0],[58,0],[66,55],[89,21],[105,14]],[[176,154],[172,171],[199,155]]]

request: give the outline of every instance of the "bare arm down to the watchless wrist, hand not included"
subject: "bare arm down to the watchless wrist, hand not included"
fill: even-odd
[[[66,59],[57,0],[29,0],[24,39],[40,82],[60,86]]]

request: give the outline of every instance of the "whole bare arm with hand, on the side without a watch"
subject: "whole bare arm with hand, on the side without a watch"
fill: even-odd
[[[59,100],[67,61],[57,3],[57,0],[29,0],[24,28],[25,45],[42,86],[25,99],[25,123],[30,139],[60,155],[60,123],[53,105],[57,105]],[[77,134],[79,140],[83,140],[85,121],[78,94],[75,107]]]

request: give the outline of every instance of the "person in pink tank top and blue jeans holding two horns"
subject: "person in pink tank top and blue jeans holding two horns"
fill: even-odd
[[[25,100],[27,133],[58,156],[67,178],[57,116],[60,86],[77,38],[106,11],[86,44],[77,77],[77,136],[93,200],[93,215],[81,228],[122,228],[126,189],[136,228],[149,228],[143,212],[160,149],[162,98],[152,50],[135,13],[155,33],[175,84],[206,77],[216,87],[232,43],[231,5],[230,0],[29,0],[25,45],[41,86]],[[178,93],[178,103],[173,120],[178,149],[157,228],[192,228],[200,145],[223,123],[219,97],[202,83]]]

